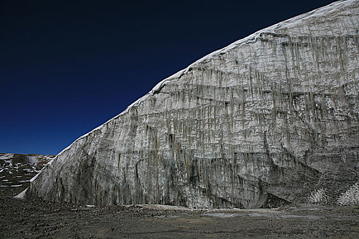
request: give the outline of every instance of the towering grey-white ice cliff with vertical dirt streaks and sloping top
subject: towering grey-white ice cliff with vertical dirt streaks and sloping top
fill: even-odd
[[[77,139],[29,195],[254,208],[334,197],[359,174],[359,1],[258,31]]]

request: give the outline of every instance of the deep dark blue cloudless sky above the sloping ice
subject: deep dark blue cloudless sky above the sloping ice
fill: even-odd
[[[0,0],[0,152],[57,154],[196,59],[331,2]]]

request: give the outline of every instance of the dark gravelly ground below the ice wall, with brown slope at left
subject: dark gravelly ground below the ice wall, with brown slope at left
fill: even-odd
[[[31,169],[26,156],[0,157],[1,177],[8,180],[0,181],[0,238],[359,238],[358,207],[191,210],[14,199],[39,168]],[[18,164],[18,171],[3,166],[10,164]]]

